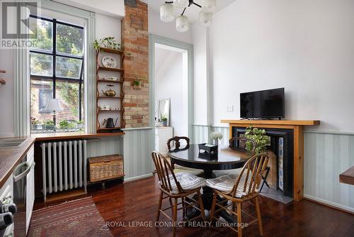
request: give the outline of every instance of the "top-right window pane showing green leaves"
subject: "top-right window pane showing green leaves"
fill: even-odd
[[[57,52],[83,55],[84,30],[57,23]]]

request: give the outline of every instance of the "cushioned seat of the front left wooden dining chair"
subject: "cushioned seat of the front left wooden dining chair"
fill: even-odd
[[[206,184],[205,178],[195,176],[189,172],[178,172],[175,174],[177,182],[181,184],[184,191],[191,189],[198,189],[198,187],[204,187]],[[178,187],[173,179],[172,175],[169,175],[169,180],[171,182],[172,194],[178,194]]]

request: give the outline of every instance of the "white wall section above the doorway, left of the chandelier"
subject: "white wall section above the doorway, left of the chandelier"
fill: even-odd
[[[192,25],[187,32],[180,33],[176,31],[176,21],[162,22],[160,15],[149,7],[149,33],[164,36],[173,40],[179,40],[185,43],[193,43]]]

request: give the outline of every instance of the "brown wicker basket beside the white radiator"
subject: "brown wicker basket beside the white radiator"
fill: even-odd
[[[112,180],[124,176],[123,158],[106,155],[89,158],[90,182]]]

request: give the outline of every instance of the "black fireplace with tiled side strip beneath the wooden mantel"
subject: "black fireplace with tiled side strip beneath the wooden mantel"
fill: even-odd
[[[270,136],[268,150],[271,150],[276,161],[271,169],[276,169],[275,188],[284,196],[294,197],[294,131],[292,129],[264,128]],[[243,136],[246,128],[232,126],[232,137]],[[236,145],[236,144],[234,144]]]

